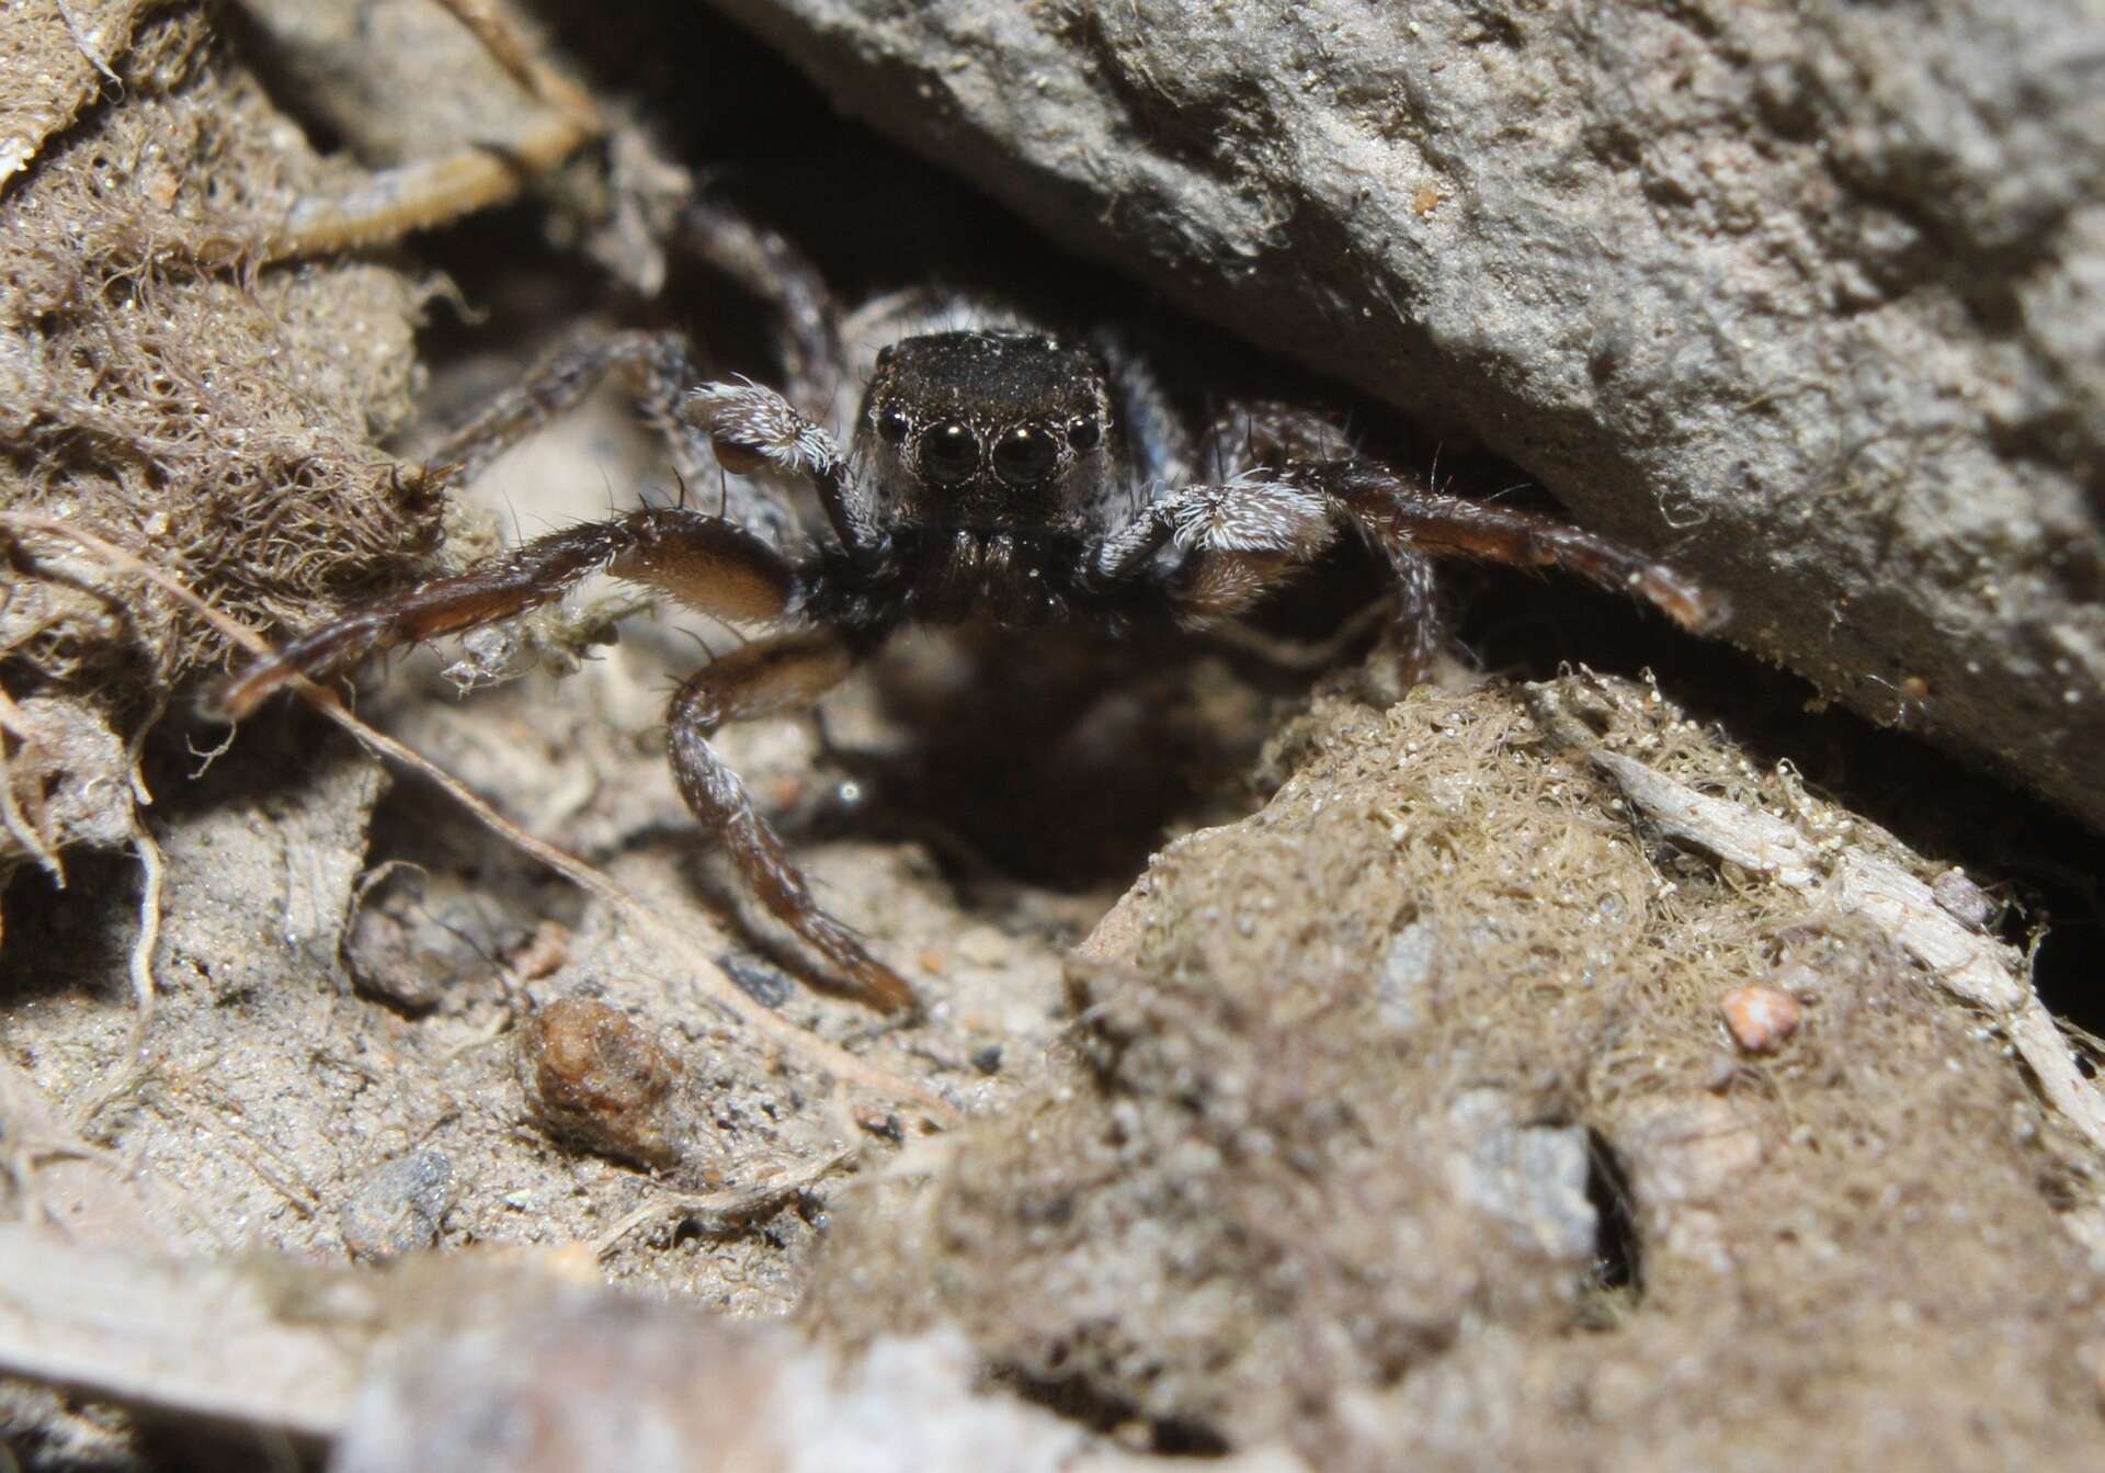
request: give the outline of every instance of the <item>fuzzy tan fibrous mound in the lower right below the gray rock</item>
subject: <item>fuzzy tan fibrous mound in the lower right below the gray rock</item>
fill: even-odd
[[[1055,1403],[1322,1467],[2099,1456],[2088,1121],[1850,904],[1934,868],[1657,691],[1572,706],[1577,748],[1497,685],[1318,700],[1078,952],[1076,1073],[844,1224],[823,1332],[962,1323]],[[1659,841],[1589,750],[1825,883]],[[1804,1014],[1762,1056],[1749,984]]]

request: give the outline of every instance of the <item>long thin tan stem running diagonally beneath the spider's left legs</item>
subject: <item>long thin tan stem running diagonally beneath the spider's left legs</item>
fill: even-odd
[[[221,613],[204,598],[194,594],[173,573],[154,567],[143,558],[133,556],[131,552],[124,552],[122,548],[109,542],[103,542],[91,531],[72,527],[55,516],[36,516],[29,512],[0,512],[0,529],[13,533],[44,533],[55,537],[67,537],[74,544],[93,552],[114,571],[145,577],[156,588],[166,592],[171,598],[192,609],[200,620],[210,624],[215,630],[225,634],[232,643],[246,649],[250,655],[269,657],[274,653],[269,641],[265,641],[261,634],[246,628],[244,624],[229,620],[225,613]],[[779,1014],[747,1001],[745,993],[741,993],[737,984],[728,976],[724,976],[722,967],[716,965],[716,961],[701,948],[701,944],[693,936],[688,936],[682,927],[674,925],[671,921],[665,921],[661,915],[657,915],[650,906],[646,906],[629,891],[621,889],[621,885],[617,885],[610,877],[592,868],[583,860],[577,860],[564,853],[562,849],[543,843],[541,839],[535,839],[526,830],[518,828],[503,813],[499,813],[488,803],[469,792],[465,786],[461,786],[461,782],[455,775],[450,775],[429,759],[421,757],[419,752],[413,752],[410,748],[402,746],[394,738],[381,735],[364,721],[354,716],[349,710],[343,708],[343,702],[339,702],[333,693],[324,691],[312,681],[293,681],[293,685],[316,710],[320,710],[339,727],[349,731],[366,750],[377,752],[379,757],[387,757],[421,773],[423,778],[429,778],[438,788],[442,788],[448,797],[453,797],[455,803],[474,813],[484,828],[505,839],[522,853],[528,853],[541,864],[549,866],[579,889],[585,889],[592,896],[604,900],[625,921],[629,921],[640,931],[648,934],[653,940],[665,946],[665,950],[669,950],[678,961],[686,963],[703,997],[718,1009],[728,1014],[735,1022],[741,1022],[754,1028],[756,1033],[766,1035],[787,1054],[794,1054],[813,1068],[834,1075],[842,1083],[863,1085],[865,1089],[871,1089],[886,1098],[901,1102],[911,1100],[920,1104],[928,1113],[928,1119],[933,1123],[947,1125],[962,1119],[958,1106],[954,1106],[949,1100],[928,1089],[926,1085],[895,1075],[893,1071],[871,1064],[869,1060],[857,1058],[855,1054],[848,1054],[844,1047],[827,1043],[825,1039],[804,1028],[798,1028],[794,1022],[781,1018]]]

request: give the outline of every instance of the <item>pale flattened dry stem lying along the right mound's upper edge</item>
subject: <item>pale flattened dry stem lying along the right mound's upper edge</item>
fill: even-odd
[[[1861,851],[1844,851],[1823,872],[1819,851],[1791,824],[1739,803],[1713,799],[1644,763],[1593,750],[1593,763],[1671,839],[1692,843],[1789,889],[1821,896],[1840,915],[1857,915],[1922,963],[1941,988],[1983,1009],[2017,1047],[2040,1094],[2097,1148],[2105,1151],[2105,1096],[2076,1066],[2069,1041],[2012,965],[2002,942],[1977,936],[1937,904],[1913,875]]]

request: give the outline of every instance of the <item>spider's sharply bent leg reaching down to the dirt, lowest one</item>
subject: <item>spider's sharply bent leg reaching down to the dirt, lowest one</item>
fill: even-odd
[[[693,674],[671,700],[667,752],[680,794],[703,828],[722,839],[754,896],[791,931],[840,967],[850,984],[886,1012],[911,1009],[914,990],[863,950],[855,931],[819,908],[810,885],[789,864],[781,839],[758,811],[739,775],[709,746],[726,721],[800,710],[855,666],[848,643],[825,628],[741,645]]]

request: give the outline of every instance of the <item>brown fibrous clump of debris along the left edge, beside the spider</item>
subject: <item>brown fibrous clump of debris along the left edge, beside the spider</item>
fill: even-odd
[[[76,44],[57,11],[11,34]],[[307,148],[202,11],[103,36],[112,97],[42,139],[0,194],[0,512],[99,533],[253,626],[303,624],[436,546],[436,485],[377,447],[410,409],[427,289],[379,261],[244,263],[244,230],[347,166]],[[0,97],[0,114],[21,107]],[[97,729],[128,738],[225,655],[215,630],[78,544],[4,542],[0,691],[76,714],[4,723],[0,875],[128,832],[128,784],[99,792],[118,820],[44,794],[78,784],[69,748]]]

